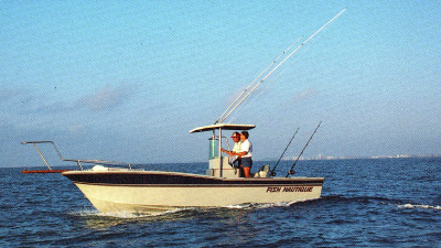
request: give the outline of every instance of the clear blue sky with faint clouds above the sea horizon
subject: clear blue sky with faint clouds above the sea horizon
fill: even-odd
[[[206,161],[211,133],[189,131],[344,8],[225,122],[256,125],[255,160],[299,128],[297,157],[320,121],[304,157],[441,154],[440,1],[0,6],[0,166],[44,165],[21,144],[36,140],[67,159]]]

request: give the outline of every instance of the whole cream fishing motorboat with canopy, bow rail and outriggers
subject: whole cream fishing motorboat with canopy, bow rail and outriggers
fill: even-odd
[[[63,161],[76,162],[79,170],[65,171],[62,172],[62,175],[69,179],[103,213],[158,213],[186,207],[222,207],[248,203],[292,203],[320,198],[324,177],[289,176],[293,174],[292,168],[284,177],[276,177],[275,168],[270,171],[269,164],[261,166],[250,177],[243,177],[241,171],[232,163],[227,154],[222,152],[223,142],[225,142],[223,141],[225,140],[223,131],[254,129],[255,125],[227,123],[225,120],[275,69],[345,10],[303,41],[282,62],[276,64],[280,57],[288,54],[287,51],[293,44],[284,51],[235,99],[214,125],[198,127],[190,131],[190,133],[208,133],[209,155],[205,174],[140,170],[133,169],[131,164],[111,161],[64,159],[52,141],[22,143],[32,143],[35,149],[37,149],[35,145],[37,143],[52,143]],[[267,71],[269,73],[265,75]],[[46,163],[40,150],[37,152]],[[94,166],[84,170],[83,163],[92,163]],[[121,164],[128,166],[115,166]],[[46,165],[52,170],[47,163]]]

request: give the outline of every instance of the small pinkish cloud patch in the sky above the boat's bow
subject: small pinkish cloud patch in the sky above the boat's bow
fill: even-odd
[[[119,85],[112,87],[107,85],[97,91],[83,96],[76,101],[76,106],[85,107],[93,111],[115,108],[126,103],[135,89],[133,85]]]

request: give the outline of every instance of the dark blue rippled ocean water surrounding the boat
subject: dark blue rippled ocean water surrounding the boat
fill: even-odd
[[[441,247],[440,158],[300,161],[320,200],[153,216],[100,214],[64,176],[21,170],[0,169],[0,247]]]

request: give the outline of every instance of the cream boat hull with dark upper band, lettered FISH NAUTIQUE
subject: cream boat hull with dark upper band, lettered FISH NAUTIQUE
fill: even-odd
[[[218,179],[148,171],[71,171],[63,175],[103,213],[155,213],[184,207],[314,200],[320,197],[324,181],[322,177]],[[146,182],[140,182],[144,177]]]

